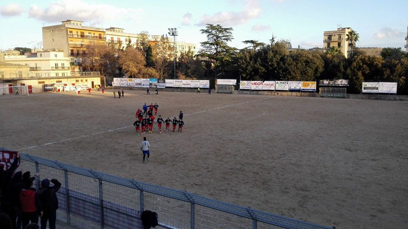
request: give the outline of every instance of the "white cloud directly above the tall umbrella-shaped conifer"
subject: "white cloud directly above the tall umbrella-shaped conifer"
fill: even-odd
[[[197,26],[205,24],[222,24],[222,26],[237,26],[244,24],[251,19],[258,18],[262,9],[258,4],[258,0],[248,0],[242,11],[220,11],[213,15],[204,14],[201,16]]]

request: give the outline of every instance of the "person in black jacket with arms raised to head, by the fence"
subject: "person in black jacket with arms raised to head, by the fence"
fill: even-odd
[[[58,190],[61,188],[61,183],[58,182],[57,179],[52,179],[51,183],[53,183],[54,186],[49,187],[49,180],[42,180],[41,188],[37,191],[43,209],[43,215],[41,217],[41,229],[45,229],[47,227],[47,221],[49,223],[49,229],[55,229],[55,220],[57,217],[58,209],[58,199],[56,192],[58,192]]]

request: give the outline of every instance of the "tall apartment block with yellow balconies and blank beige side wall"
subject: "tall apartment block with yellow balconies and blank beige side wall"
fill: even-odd
[[[106,44],[104,29],[82,26],[82,21],[65,20],[42,28],[44,50],[58,49],[70,58],[71,71],[82,70],[82,57],[91,44]]]

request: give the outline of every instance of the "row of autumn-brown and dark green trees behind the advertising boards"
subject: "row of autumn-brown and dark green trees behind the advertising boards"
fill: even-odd
[[[362,82],[396,82],[398,94],[408,94],[408,56],[401,48],[383,48],[381,56],[369,56],[356,48],[359,34],[347,34],[348,58],[337,47],[323,49],[291,49],[288,40],[272,35],[268,43],[243,41],[247,47],[228,45],[234,39],[233,28],[207,24],[200,32],[207,40],[193,55],[191,50],[177,57],[176,75],[173,69],[173,43],[167,37],[150,42],[142,33],[136,46],[128,44],[91,45],[83,67],[98,70],[104,75],[117,72],[127,77],[158,79],[237,79],[254,81],[319,81],[349,80],[347,92],[361,93]]]

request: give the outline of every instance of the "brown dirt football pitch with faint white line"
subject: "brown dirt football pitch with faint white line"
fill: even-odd
[[[143,103],[183,111],[183,133],[137,136]],[[5,148],[337,228],[408,225],[406,101],[92,90],[0,106]]]

